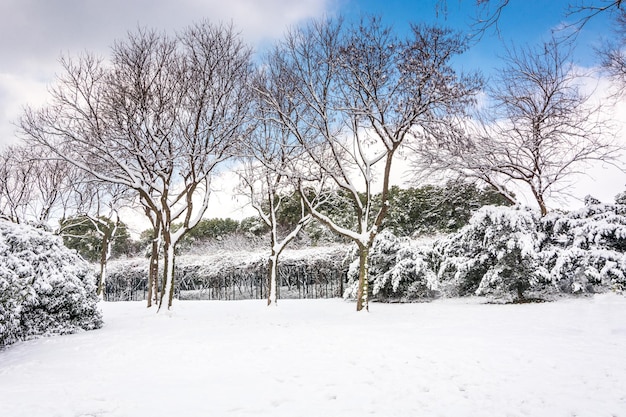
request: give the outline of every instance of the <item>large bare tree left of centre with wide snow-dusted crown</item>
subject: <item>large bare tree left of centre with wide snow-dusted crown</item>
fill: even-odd
[[[203,22],[177,37],[139,30],[113,46],[108,66],[87,54],[63,60],[52,104],[21,121],[31,142],[136,192],[163,243],[159,307],[172,304],[175,246],[201,219],[212,173],[246,133],[249,57],[229,26]]]

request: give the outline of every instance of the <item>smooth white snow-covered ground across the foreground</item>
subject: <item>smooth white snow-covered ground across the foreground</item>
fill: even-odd
[[[626,416],[626,298],[102,305],[0,351],[0,415]]]

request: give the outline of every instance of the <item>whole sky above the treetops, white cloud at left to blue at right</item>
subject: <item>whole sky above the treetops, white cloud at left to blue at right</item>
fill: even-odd
[[[504,44],[536,44],[555,28],[575,21],[576,16],[566,15],[569,2],[511,0],[501,16],[499,31],[485,33],[459,65],[489,74],[498,66]],[[23,106],[39,106],[45,101],[47,85],[60,70],[62,54],[72,56],[87,50],[107,57],[110,45],[138,26],[174,32],[200,19],[232,21],[257,49],[271,45],[288,26],[322,15],[356,19],[373,13],[398,30],[408,28],[409,22],[433,21],[467,30],[476,16],[475,0],[446,3],[447,11],[442,12],[437,10],[437,0],[1,0],[0,148],[17,141],[12,122]],[[597,64],[593,48],[614,36],[610,28],[608,16],[594,18],[584,27],[576,39],[578,65],[592,68]],[[623,108],[620,111],[626,113]],[[601,179],[585,185],[594,195],[610,201],[624,190],[624,174],[598,172]]]

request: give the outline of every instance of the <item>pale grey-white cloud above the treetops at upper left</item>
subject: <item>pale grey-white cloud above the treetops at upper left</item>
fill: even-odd
[[[297,22],[326,13],[335,0],[2,0],[0,2],[0,149],[15,141],[24,105],[38,105],[60,71],[61,54],[106,57],[138,26],[173,33],[207,19],[232,22],[252,46]]]

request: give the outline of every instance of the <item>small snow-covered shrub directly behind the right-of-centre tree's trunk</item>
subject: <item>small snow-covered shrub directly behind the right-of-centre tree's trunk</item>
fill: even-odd
[[[435,273],[427,255],[411,245],[408,238],[398,238],[383,230],[374,239],[369,257],[369,288],[374,299],[417,300],[437,294]],[[350,264],[345,298],[356,297],[359,260]]]

